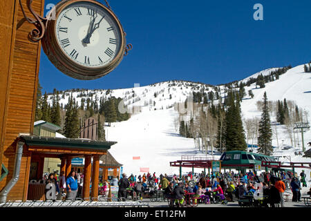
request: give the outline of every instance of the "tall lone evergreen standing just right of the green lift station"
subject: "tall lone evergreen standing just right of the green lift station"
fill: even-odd
[[[271,155],[272,148],[272,129],[270,125],[269,107],[267,104],[267,93],[263,95],[263,113],[261,114],[261,121],[258,129],[258,151],[265,155]]]

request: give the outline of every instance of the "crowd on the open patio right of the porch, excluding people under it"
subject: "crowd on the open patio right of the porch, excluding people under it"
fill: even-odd
[[[142,199],[142,193],[154,190],[164,191],[165,198],[169,198],[175,204],[183,204],[187,201],[188,193],[194,198],[200,199],[200,202],[209,204],[220,202],[226,204],[234,202],[235,199],[248,199],[249,195],[254,199],[264,199],[263,205],[275,206],[281,204],[284,206],[285,190],[292,191],[292,201],[301,201],[301,184],[307,186],[305,182],[304,171],[300,174],[301,179],[295,177],[290,171],[285,173],[263,172],[257,175],[256,172],[248,173],[213,173],[200,174],[189,173],[183,175],[181,179],[177,175],[168,176],[167,174],[156,176],[156,173],[144,173],[143,175],[133,175],[126,177],[123,174],[122,179],[118,181],[118,198],[125,200],[127,198],[126,189],[133,189]],[[114,184],[115,185],[115,184]],[[310,193],[310,192],[308,192]],[[261,196],[261,197],[259,197]],[[189,201],[188,201],[189,202]]]

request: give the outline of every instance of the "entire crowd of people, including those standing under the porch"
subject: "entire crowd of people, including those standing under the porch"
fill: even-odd
[[[305,173],[300,173],[301,179],[295,177],[290,171],[285,172],[264,172],[257,175],[249,171],[248,173],[213,173],[205,174],[204,171],[198,174],[188,173],[178,178],[177,175],[168,176],[167,174],[144,173],[143,175],[133,175],[129,177],[125,173],[122,177],[112,177],[110,182],[100,180],[99,195],[107,196],[109,186],[118,186],[117,198],[125,201],[128,198],[129,189],[135,191],[140,200],[145,193],[152,194],[156,190],[162,190],[164,197],[171,200],[171,206],[189,203],[189,196],[196,198],[200,203],[223,203],[243,200],[247,196],[253,195],[254,199],[265,198],[265,205],[281,204],[284,206],[285,190],[292,191],[292,201],[301,201],[301,183],[305,183]],[[45,177],[46,184],[53,182],[56,186],[57,200],[61,200],[66,195],[66,200],[75,200],[81,193],[83,174],[71,171],[65,177],[64,171],[59,176],[50,173]],[[311,189],[310,189],[311,191]],[[64,194],[65,193],[65,194]],[[308,192],[311,193],[311,192]]]

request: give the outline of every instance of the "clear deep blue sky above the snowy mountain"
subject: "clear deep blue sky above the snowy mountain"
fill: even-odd
[[[46,0],[57,3],[59,0]],[[104,0],[99,0],[104,2]],[[255,3],[263,21],[255,21]],[[311,60],[310,0],[110,0],[133,50],[109,75],[67,77],[41,50],[42,91],[131,88],[173,79],[223,84]]]

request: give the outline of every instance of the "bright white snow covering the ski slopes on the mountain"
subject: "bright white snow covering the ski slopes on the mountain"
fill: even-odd
[[[256,73],[250,77],[257,75],[267,75],[270,71],[275,70],[270,68]],[[248,78],[242,81],[247,81]],[[224,96],[225,86],[220,86],[220,93]],[[112,123],[111,127],[106,126],[106,139],[115,141],[117,144],[111,147],[111,153],[115,159],[123,164],[124,172],[128,174],[142,174],[141,168],[148,168],[150,173],[179,173],[178,167],[170,167],[169,162],[180,160],[182,155],[205,155],[199,153],[194,148],[194,140],[180,137],[178,135],[178,127],[174,124],[174,120],[178,117],[178,113],[174,111],[173,104],[185,102],[188,93],[205,92],[213,90],[216,92],[216,87],[208,84],[200,84],[189,81],[166,81],[151,86],[143,86],[136,88],[126,88],[111,90],[88,90],[86,93],[90,99],[99,99],[100,97],[122,97],[124,104],[131,106],[142,106],[141,113],[132,115],[131,119],[126,122]],[[263,93],[267,92],[267,98],[270,101],[294,100],[299,108],[311,113],[311,73],[303,72],[303,65],[296,66],[287,73],[280,75],[279,79],[265,84],[265,88],[256,88],[255,84],[245,87],[245,91],[252,90],[254,98],[248,96],[243,99],[241,111],[245,119],[252,117],[261,117],[261,112],[257,110],[256,102],[262,100]],[[76,100],[80,102],[81,91],[73,93]],[[70,92],[64,93],[64,98],[61,100],[63,104],[68,101]],[[92,96],[91,96],[92,95]],[[275,116],[272,116],[272,122],[275,121]],[[306,159],[301,156],[294,155],[294,149],[283,151],[281,144],[290,145],[290,139],[285,133],[284,126],[277,126],[279,131],[279,149],[275,149],[274,155],[290,156],[292,162],[311,162],[311,159]],[[305,134],[305,147],[309,148],[307,142],[311,142],[311,131]],[[299,137],[301,140],[301,137]],[[283,142],[281,142],[283,140]],[[301,142],[300,142],[301,143]],[[276,145],[276,139],[272,142]],[[301,149],[301,146],[300,146]],[[140,159],[140,160],[133,160]],[[214,155],[218,160],[220,155]],[[282,158],[282,161],[288,161],[288,158]],[[183,168],[182,173],[191,171],[191,169]],[[201,169],[195,171],[200,172]],[[296,170],[300,173],[301,170]],[[305,170],[310,180],[310,170]]]

